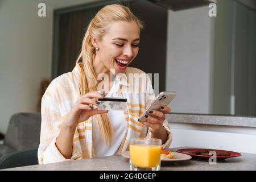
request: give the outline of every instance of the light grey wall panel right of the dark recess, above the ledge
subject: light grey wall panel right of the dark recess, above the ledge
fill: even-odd
[[[214,18],[208,6],[168,11],[166,90],[174,113],[209,114]]]

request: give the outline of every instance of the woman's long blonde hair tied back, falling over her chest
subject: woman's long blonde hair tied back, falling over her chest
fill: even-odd
[[[98,11],[87,27],[84,39],[82,40],[81,52],[76,60],[76,64],[82,60],[82,95],[97,90],[97,77],[93,69],[93,61],[96,51],[92,45],[91,38],[94,36],[98,38],[98,40],[102,40],[102,37],[107,31],[106,27],[110,23],[117,21],[136,22],[140,29],[143,28],[141,20],[139,20],[126,6],[117,4],[107,5]],[[94,115],[94,118],[96,118],[96,124],[104,142],[111,145],[113,130],[108,114],[96,114]]]

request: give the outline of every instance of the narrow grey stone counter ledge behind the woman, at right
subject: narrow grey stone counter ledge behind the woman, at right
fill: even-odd
[[[256,127],[256,117],[172,113],[166,114],[166,119],[168,122],[176,123]]]

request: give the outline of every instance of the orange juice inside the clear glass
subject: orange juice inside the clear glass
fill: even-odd
[[[153,144],[130,144],[130,159],[137,167],[156,167],[160,162],[161,146]]]

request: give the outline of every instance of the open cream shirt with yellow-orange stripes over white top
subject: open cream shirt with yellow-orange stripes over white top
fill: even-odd
[[[56,138],[59,135],[61,123],[67,117],[67,114],[81,97],[81,69],[82,63],[76,65],[72,72],[65,73],[55,78],[49,84],[46,92],[42,97],[41,103],[41,134],[38,148],[39,164],[64,162],[68,160],[94,158],[94,148],[92,140],[92,122],[94,117],[79,123],[75,130],[73,138],[73,149],[71,159],[65,159],[56,147]],[[124,78],[122,75],[115,76],[117,87],[114,92],[120,96],[126,97],[126,133],[122,143],[119,146],[118,154],[129,150],[129,141],[131,138],[146,137],[151,138],[148,127],[138,122],[140,115],[146,111],[147,106],[154,100],[155,94],[152,89],[150,77],[137,68],[126,68]],[[130,79],[143,77],[140,84],[138,81]],[[170,147],[172,133],[168,126],[167,120],[163,125],[167,131],[168,137],[162,145],[163,148]],[[113,131],[115,132],[115,131]]]

